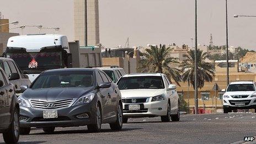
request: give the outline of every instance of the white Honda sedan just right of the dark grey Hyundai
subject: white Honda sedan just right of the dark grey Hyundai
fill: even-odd
[[[176,85],[162,73],[126,74],[118,81],[123,122],[128,118],[161,116],[163,122],[179,121],[179,96]]]

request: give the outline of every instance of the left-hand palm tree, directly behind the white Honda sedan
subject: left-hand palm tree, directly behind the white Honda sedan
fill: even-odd
[[[180,73],[182,72],[178,68],[170,66],[179,63],[178,58],[169,55],[171,50],[166,45],[160,44],[159,48],[151,46],[150,49],[146,49],[146,52],[142,54],[144,58],[142,58],[138,69],[141,72],[164,73],[169,79],[174,79],[178,86],[180,86],[179,82],[182,79]]]

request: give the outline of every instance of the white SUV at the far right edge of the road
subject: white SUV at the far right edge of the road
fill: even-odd
[[[256,88],[254,82],[231,82],[227,90],[222,89],[223,112],[236,109],[256,109]]]

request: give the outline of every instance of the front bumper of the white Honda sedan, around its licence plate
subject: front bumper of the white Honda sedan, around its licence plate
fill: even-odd
[[[130,104],[139,104],[140,110],[129,110]],[[147,103],[122,103],[124,118],[143,118],[143,117],[154,117],[162,116],[167,114],[166,100],[161,100],[157,102],[147,102]]]

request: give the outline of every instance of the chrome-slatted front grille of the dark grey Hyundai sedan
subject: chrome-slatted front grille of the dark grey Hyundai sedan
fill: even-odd
[[[62,99],[56,101],[30,100],[33,108],[38,109],[60,109],[67,108],[73,102],[73,99]]]

